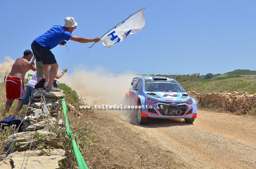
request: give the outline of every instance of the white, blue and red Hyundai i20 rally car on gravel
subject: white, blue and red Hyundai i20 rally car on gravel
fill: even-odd
[[[196,102],[174,79],[166,77],[134,78],[126,99],[137,110],[139,124],[148,118],[183,118],[193,123],[196,118]]]

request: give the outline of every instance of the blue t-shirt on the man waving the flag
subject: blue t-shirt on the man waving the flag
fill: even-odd
[[[71,36],[73,36],[72,33],[68,32],[65,28],[60,25],[55,25],[34,40],[41,46],[52,49],[64,40],[69,40]]]

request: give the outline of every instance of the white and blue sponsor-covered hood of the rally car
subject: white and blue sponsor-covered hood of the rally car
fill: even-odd
[[[145,95],[158,98],[160,101],[178,101],[187,100],[190,96],[186,92],[174,92],[174,91],[146,91]]]

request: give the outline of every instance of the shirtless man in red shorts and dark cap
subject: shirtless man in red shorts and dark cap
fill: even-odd
[[[12,66],[12,70],[9,73],[6,80],[6,103],[5,103],[5,113],[7,113],[12,106],[14,99],[20,102],[24,93],[24,83],[26,73],[31,69],[36,71],[37,68],[34,66],[33,62],[30,62],[33,57],[31,50],[25,50],[22,58],[17,58]]]

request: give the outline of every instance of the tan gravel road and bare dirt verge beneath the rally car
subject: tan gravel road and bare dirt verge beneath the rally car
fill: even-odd
[[[94,113],[107,168],[256,168],[255,116],[199,110],[193,124],[152,119],[138,125],[118,113]]]

